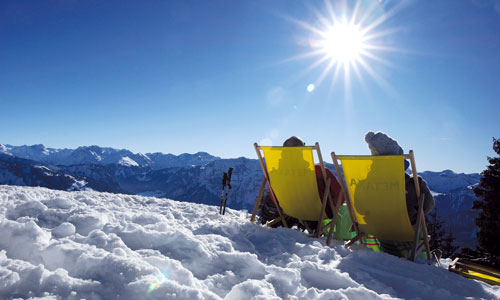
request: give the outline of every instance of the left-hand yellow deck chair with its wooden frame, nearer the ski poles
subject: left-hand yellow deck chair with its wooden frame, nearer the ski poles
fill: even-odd
[[[279,217],[268,223],[268,225],[281,221],[285,227],[288,227],[285,216],[294,217],[300,221],[317,221],[317,228],[315,229],[308,228],[305,223],[304,225],[314,237],[319,237],[330,228],[326,241],[330,245],[333,226],[335,225],[333,220],[338,215],[340,205],[335,206],[333,204],[333,195],[330,195],[329,189],[330,179],[327,179],[326,176],[319,144],[301,147],[271,147],[259,146],[255,143],[254,146],[264,172],[264,180],[255,203],[251,221],[255,220],[267,183],[273,194],[271,199],[279,212]],[[326,188],[322,198],[320,198],[318,192],[313,150],[317,152],[323,179],[325,180]],[[265,159],[261,151],[264,153]],[[338,197],[340,198],[341,195],[338,195]],[[276,201],[279,202],[279,205]],[[336,203],[340,203],[340,200],[337,199]],[[330,205],[334,218],[331,222],[323,225],[322,221],[326,217],[325,209],[327,204]],[[283,211],[281,211],[280,206]]]

